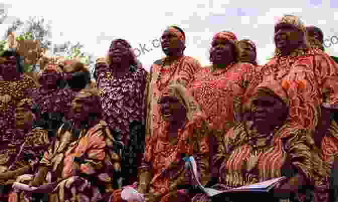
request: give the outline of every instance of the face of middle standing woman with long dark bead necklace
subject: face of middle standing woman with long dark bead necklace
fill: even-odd
[[[166,30],[161,37],[161,47],[166,55],[171,55],[174,52],[182,50],[183,44],[174,32]]]

